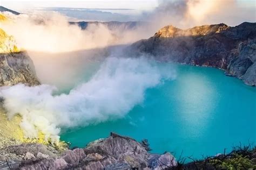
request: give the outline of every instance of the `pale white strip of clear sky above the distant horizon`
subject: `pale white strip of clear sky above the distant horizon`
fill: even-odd
[[[164,0],[76,0],[76,1],[24,1],[24,0],[0,0],[1,5],[15,10],[23,10],[26,8],[48,8],[48,7],[66,7],[66,8],[100,8],[100,9],[136,9],[151,10],[158,6],[159,1]],[[178,0],[173,0],[178,1]],[[182,0],[180,0],[182,1]],[[216,0],[213,0],[216,1]],[[217,0],[225,1],[225,0]],[[255,0],[237,0],[242,7],[252,8],[256,6]]]

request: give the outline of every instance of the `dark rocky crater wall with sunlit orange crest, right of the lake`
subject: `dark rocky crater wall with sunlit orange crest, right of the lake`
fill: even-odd
[[[227,75],[256,85],[256,23],[204,25],[187,30],[165,26],[131,48],[136,54],[153,55],[160,61],[224,69]]]

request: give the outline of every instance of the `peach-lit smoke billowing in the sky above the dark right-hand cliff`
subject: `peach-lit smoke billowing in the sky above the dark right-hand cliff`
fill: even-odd
[[[159,0],[159,5],[144,18],[153,22],[152,28],[174,25],[181,29],[206,24],[225,23],[230,26],[255,22],[255,5],[245,8],[236,0]],[[238,12],[239,11],[239,12]]]

